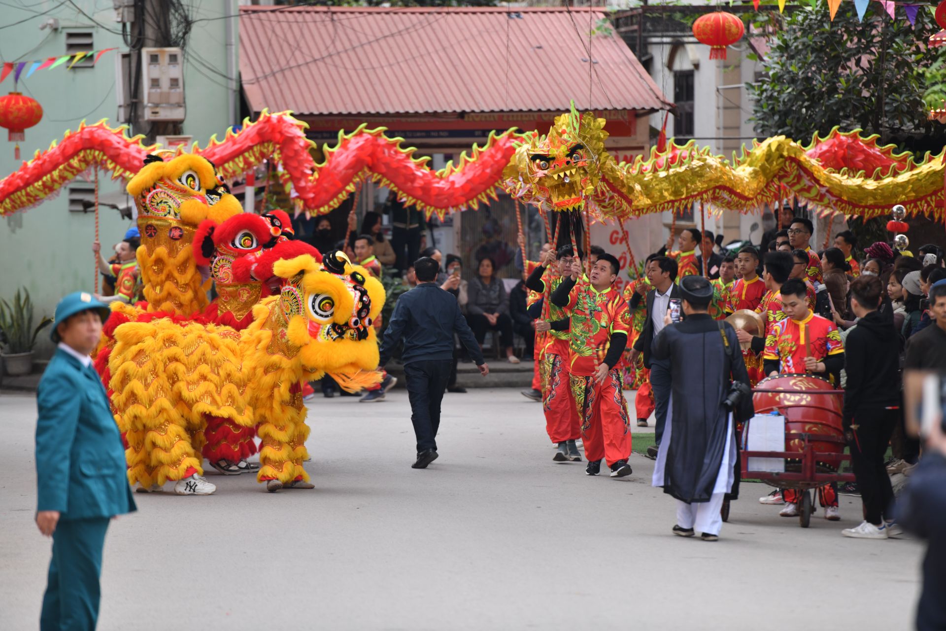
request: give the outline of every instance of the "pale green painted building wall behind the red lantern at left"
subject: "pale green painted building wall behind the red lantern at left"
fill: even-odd
[[[57,7],[59,4],[32,3],[30,9],[5,6],[0,16],[0,61],[34,61],[64,55],[66,33],[70,30],[93,32],[96,49],[111,46],[128,49],[120,34],[121,24],[114,21],[112,3],[77,0],[75,5],[92,19],[83,16],[72,3]],[[222,137],[231,122],[236,122],[227,120],[226,79],[207,67],[221,74],[226,72],[226,20],[221,19],[224,2],[186,4],[193,8],[193,17],[201,21],[191,30],[184,53],[187,108],[184,133],[193,135],[202,146],[214,133]],[[47,10],[49,12],[44,13]],[[50,18],[59,20],[59,29],[41,30],[40,26]],[[236,38],[236,19],[234,22]],[[65,63],[52,70],[39,70],[24,79],[29,68],[26,66],[18,90],[40,102],[44,117],[39,125],[26,131],[26,142],[21,143],[23,159],[31,158],[36,149],[48,148],[52,140],[60,140],[64,131],[77,129],[82,119],[95,123],[108,118],[110,124],[115,125],[115,59],[114,52],[110,52],[92,68],[67,70],[68,63]],[[0,83],[0,94],[12,89],[11,75]],[[13,144],[7,142],[6,133],[0,130],[0,178],[17,167]],[[122,184],[104,175],[99,184],[100,195],[119,193],[123,189]],[[102,208],[99,230],[103,250],[120,240],[130,225],[130,221],[121,219],[113,209]],[[26,212],[0,219],[0,297],[9,298],[17,287],[25,286],[40,317],[51,315],[64,293],[92,290],[94,235],[94,215],[69,212],[65,189],[60,196]],[[48,355],[51,345],[44,339],[37,351]]]

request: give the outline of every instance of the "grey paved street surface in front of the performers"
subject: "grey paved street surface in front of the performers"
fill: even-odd
[[[906,629],[921,548],[803,530],[761,484],[718,543],[670,534],[634,455],[622,481],[553,464],[514,389],[447,394],[441,457],[410,468],[407,394],[310,407],[314,491],[208,474],[212,497],[136,494],[105,548],[99,629]],[[37,627],[49,543],[33,524],[35,403],[0,394],[0,628]],[[213,471],[211,471],[213,473]],[[170,484],[166,485],[170,488]]]

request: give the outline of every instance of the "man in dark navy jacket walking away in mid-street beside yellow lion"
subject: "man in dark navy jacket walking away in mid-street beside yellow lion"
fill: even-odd
[[[417,259],[414,273],[417,287],[401,295],[394,305],[391,322],[381,343],[380,366],[391,359],[397,342],[404,340],[404,376],[408,379],[411,421],[417,436],[417,462],[412,468],[423,469],[437,459],[437,429],[440,428],[440,402],[444,398],[450,368],[453,365],[453,333],[460,337],[483,377],[489,366],[482,359],[482,349],[473,336],[457,298],[436,284],[440,264],[429,256]]]

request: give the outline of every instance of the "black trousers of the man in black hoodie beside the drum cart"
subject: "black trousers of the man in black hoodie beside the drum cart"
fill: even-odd
[[[890,517],[893,487],[884,466],[884,454],[899,416],[899,410],[884,408],[854,414],[853,425],[858,429],[852,429],[850,464],[864,502],[864,518],[875,526],[881,525],[885,514]]]

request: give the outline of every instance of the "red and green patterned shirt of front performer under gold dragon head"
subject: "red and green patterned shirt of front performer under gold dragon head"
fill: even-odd
[[[627,301],[613,287],[598,291],[579,283],[565,307],[570,316],[569,373],[590,377],[604,360],[614,333],[630,339],[633,326]],[[622,360],[613,368],[621,368]]]

